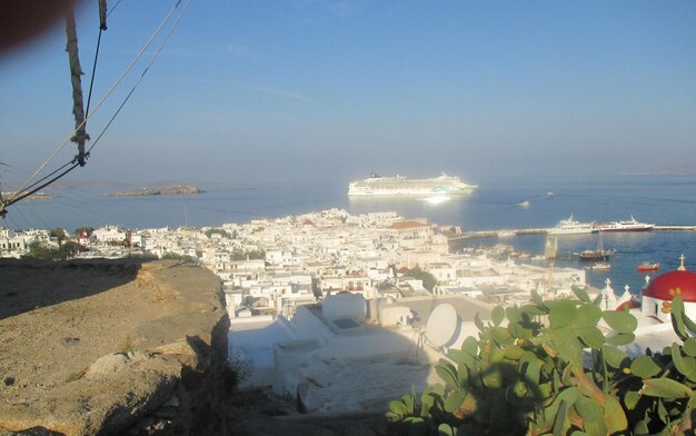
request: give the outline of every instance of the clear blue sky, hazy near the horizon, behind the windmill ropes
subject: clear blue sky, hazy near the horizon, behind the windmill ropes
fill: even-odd
[[[175,3],[109,0],[92,108]],[[77,16],[86,90],[96,4]],[[477,182],[696,168],[692,0],[182,0],[175,18],[187,4],[69,179],[446,171]],[[92,142],[165,33],[92,112]],[[0,54],[0,182],[71,135],[64,43],[58,26]],[[47,168],[74,153],[68,143]]]

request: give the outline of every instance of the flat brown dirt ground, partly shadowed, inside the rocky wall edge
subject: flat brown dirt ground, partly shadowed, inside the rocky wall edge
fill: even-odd
[[[39,397],[98,357],[139,347],[136,327],[172,310],[147,268],[0,262],[0,402]]]

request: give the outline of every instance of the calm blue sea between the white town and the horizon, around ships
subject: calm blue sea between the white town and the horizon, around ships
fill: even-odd
[[[115,197],[111,185],[59,187],[48,190],[53,199],[23,200],[10,206],[0,226],[11,229],[64,228],[117,225],[129,229],[220,226],[279,218],[329,208],[350,214],[396,211],[406,218],[459,226],[463,231],[548,228],[574,216],[579,221],[629,219],[664,226],[696,226],[696,175],[620,175],[587,177],[513,178],[489,176],[476,180],[478,189],[464,197],[432,205],[422,199],[349,198],[349,180],[275,181],[259,184],[195,184],[203,190],[192,196]],[[519,206],[528,202],[527,207]],[[544,251],[546,236],[505,239],[476,238],[453,249],[493,246],[499,242],[531,254]],[[626,285],[633,293],[645,285],[643,261],[660,262],[657,274],[679,266],[696,269],[696,231],[605,234],[606,249],[615,249],[608,271],[587,269],[591,286],[609,279],[615,291]],[[559,237],[559,256],[597,247],[597,235]],[[586,268],[579,260],[558,260],[556,267]]]

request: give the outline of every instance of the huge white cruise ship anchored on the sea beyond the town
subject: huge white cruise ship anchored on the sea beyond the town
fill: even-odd
[[[459,177],[443,172],[430,179],[409,179],[405,176],[380,177],[372,172],[365,180],[348,185],[349,196],[448,196],[470,194],[478,185],[468,185]]]

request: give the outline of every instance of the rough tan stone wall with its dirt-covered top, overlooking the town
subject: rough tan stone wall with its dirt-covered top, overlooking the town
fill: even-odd
[[[229,318],[188,262],[0,260],[0,435],[221,434]]]

